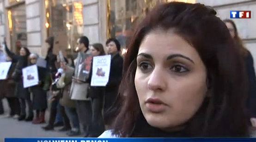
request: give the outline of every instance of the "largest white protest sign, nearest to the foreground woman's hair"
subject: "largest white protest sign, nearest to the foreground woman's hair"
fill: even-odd
[[[110,77],[111,55],[93,57],[91,86],[106,86]]]

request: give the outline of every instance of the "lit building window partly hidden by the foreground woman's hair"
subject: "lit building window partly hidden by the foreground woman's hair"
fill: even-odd
[[[195,3],[195,0],[108,0],[108,38],[116,38],[126,48],[134,26],[146,13],[160,3],[171,1]]]

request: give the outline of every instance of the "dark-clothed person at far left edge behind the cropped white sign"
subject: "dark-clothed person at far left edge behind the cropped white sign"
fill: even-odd
[[[12,59],[10,57],[6,58],[7,62],[11,62]],[[14,96],[15,90],[15,81],[12,79],[12,73],[15,69],[16,62],[12,62],[11,67],[8,71],[6,80],[0,80],[0,96],[6,97],[10,113],[7,117],[14,117],[17,118],[20,114],[20,104],[17,97]]]

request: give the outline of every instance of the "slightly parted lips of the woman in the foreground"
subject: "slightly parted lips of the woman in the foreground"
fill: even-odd
[[[146,100],[146,108],[153,113],[163,112],[166,106],[167,105],[158,98],[148,98]]]

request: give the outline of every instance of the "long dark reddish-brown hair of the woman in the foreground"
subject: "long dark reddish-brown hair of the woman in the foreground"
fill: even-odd
[[[201,4],[180,2],[157,6],[137,26],[124,60],[124,77],[119,88],[119,114],[113,134],[121,137],[244,137],[248,135],[245,98],[247,85],[239,49],[216,11]],[[168,133],[150,126],[141,113],[134,77],[141,41],[154,29],[187,40],[207,68],[207,96],[186,122],[185,128]],[[156,47],[157,48],[157,47]],[[185,88],[184,88],[185,89]]]

